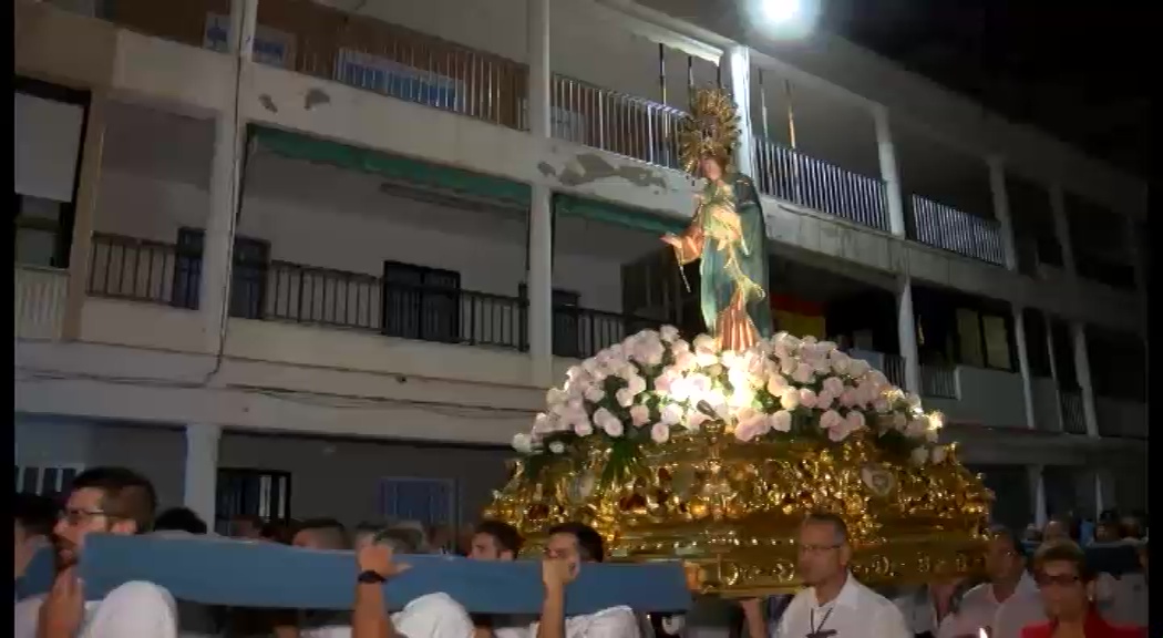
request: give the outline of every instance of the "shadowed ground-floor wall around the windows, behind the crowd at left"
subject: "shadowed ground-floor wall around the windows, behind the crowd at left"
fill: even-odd
[[[185,433],[180,426],[95,423],[16,415],[16,465],[123,466],[154,482],[162,509],[180,506]],[[451,479],[459,515],[473,521],[507,476],[504,449],[436,447],[358,439],[224,432],[219,467],[291,473],[291,514],[347,524],[380,518],[383,478]]]

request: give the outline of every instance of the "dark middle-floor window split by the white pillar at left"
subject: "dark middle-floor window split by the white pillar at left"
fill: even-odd
[[[200,228],[178,230],[177,261],[173,268],[173,304],[180,308],[198,308],[205,235]],[[266,302],[266,273],[270,263],[270,243],[249,237],[234,238],[230,316],[263,317]]]

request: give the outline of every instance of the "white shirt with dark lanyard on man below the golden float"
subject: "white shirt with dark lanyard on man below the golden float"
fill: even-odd
[[[784,611],[776,638],[805,638],[813,631],[835,631],[833,638],[913,638],[905,617],[889,598],[848,574],[840,595],[819,604],[815,588],[800,590]]]

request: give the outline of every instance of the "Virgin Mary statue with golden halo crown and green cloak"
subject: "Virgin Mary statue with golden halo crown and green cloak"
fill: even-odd
[[[735,172],[735,105],[721,89],[700,89],[679,144],[688,173],[705,179],[694,218],[665,235],[680,265],[700,259],[702,321],[725,350],[742,351],[773,331],[768,301],[768,229],[751,178]]]

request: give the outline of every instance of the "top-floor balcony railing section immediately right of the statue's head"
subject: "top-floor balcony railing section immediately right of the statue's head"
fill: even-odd
[[[884,182],[755,138],[759,191],[843,220],[889,230]]]

